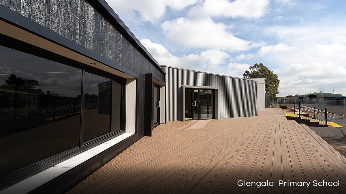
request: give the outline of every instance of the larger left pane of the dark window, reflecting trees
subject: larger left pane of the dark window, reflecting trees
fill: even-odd
[[[81,84],[82,69],[0,46],[0,177],[78,148]]]

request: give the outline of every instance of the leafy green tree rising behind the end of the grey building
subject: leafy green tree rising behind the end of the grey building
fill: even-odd
[[[277,94],[279,94],[279,83],[280,79],[277,78],[277,75],[274,74],[273,71],[268,69],[263,63],[256,63],[254,66],[249,68],[251,72],[248,70],[245,71],[243,77],[245,78],[265,78],[265,92],[270,94],[271,99],[274,99]]]

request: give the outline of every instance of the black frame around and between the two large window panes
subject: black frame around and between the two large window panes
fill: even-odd
[[[52,61],[64,64],[64,65],[68,65],[71,67],[79,68],[83,72],[83,74],[82,74],[83,86],[84,86],[83,77],[84,77],[86,70],[88,70],[88,72],[92,72],[93,74],[104,76],[104,77],[107,77],[110,79],[118,79],[121,81],[121,93],[122,93],[121,94],[121,99],[122,99],[122,102],[121,102],[121,111],[122,111],[121,123],[122,124],[121,124],[121,130],[120,131],[104,134],[100,137],[97,137],[97,139],[96,138],[92,139],[93,141],[91,141],[91,142],[83,144],[83,139],[82,139],[81,135],[83,132],[82,128],[83,128],[84,123],[81,122],[80,123],[80,128],[81,128],[80,129],[81,130],[80,131],[81,132],[80,133],[80,142],[82,142],[82,143],[80,143],[79,146],[76,146],[76,147],[71,148],[69,150],[66,150],[64,152],[58,153],[58,154],[53,155],[51,157],[45,158],[41,161],[35,162],[35,164],[36,163],[37,164],[34,166],[27,165],[25,167],[22,167],[22,168],[19,168],[19,169],[12,171],[11,174],[0,177],[0,188],[4,188],[4,187],[8,187],[10,185],[16,184],[17,182],[20,182],[21,180],[25,179],[26,177],[29,177],[29,176],[32,176],[32,175],[37,174],[39,172],[42,172],[45,169],[52,167],[52,166],[66,160],[68,158],[71,158],[75,155],[78,155],[78,154],[84,152],[85,150],[87,150],[91,147],[102,144],[102,143],[106,142],[107,140],[110,140],[114,137],[117,137],[117,136],[125,133],[125,125],[126,125],[126,123],[125,123],[125,120],[126,120],[126,118],[125,118],[125,113],[126,113],[126,78],[119,77],[117,75],[111,74],[110,72],[106,72],[106,71],[103,71],[103,70],[100,70],[97,68],[89,67],[89,66],[87,66],[87,65],[85,65],[79,61],[75,61],[71,58],[67,58],[67,57],[58,55],[54,52],[48,51],[46,49],[43,49],[43,48],[40,48],[40,47],[37,47],[34,45],[31,45],[31,44],[24,42],[24,41],[14,39],[12,37],[3,35],[1,33],[0,33],[0,46],[4,46],[4,47],[10,48],[10,49],[25,52],[25,53],[30,54],[30,55],[34,55],[34,56],[41,57],[44,59],[52,60]],[[81,90],[82,90],[81,91],[81,103],[83,105],[84,104],[83,87],[81,87]],[[84,107],[82,107],[82,108],[84,110]],[[81,120],[83,119],[83,112],[84,111],[81,111]]]

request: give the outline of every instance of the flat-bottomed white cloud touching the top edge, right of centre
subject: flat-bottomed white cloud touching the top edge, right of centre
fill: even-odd
[[[193,7],[188,16],[261,18],[268,5],[269,0],[205,0]]]

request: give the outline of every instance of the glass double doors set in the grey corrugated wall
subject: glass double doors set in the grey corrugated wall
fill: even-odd
[[[186,88],[185,120],[214,118],[214,91],[211,89]]]

